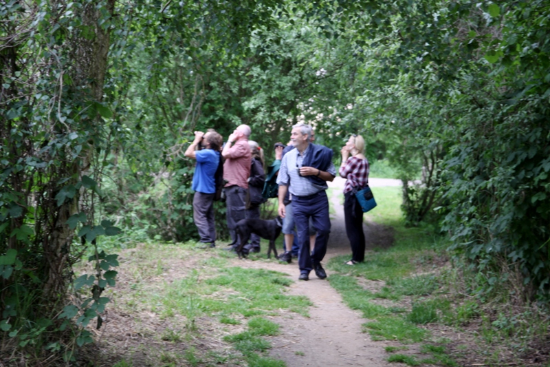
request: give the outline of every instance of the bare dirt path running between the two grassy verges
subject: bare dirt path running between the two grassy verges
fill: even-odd
[[[336,180],[335,180],[336,181]],[[397,180],[395,180],[397,181]],[[382,182],[381,182],[382,183]],[[382,185],[395,182],[384,182]],[[372,184],[371,184],[372,185]],[[375,184],[376,185],[376,184]],[[374,186],[374,185],[373,185]],[[336,255],[351,253],[344,228],[344,211],[341,202],[343,180],[333,182],[331,205],[336,215],[331,216],[331,235],[327,255],[323,263]],[[364,231],[369,244],[391,244],[392,233],[375,224],[365,224]],[[388,243],[390,242],[390,243]],[[340,294],[326,280],[319,280],[311,272],[308,282],[298,282],[298,264],[278,264],[275,262],[254,262],[241,260],[239,266],[270,269],[289,274],[296,280],[290,286],[290,294],[305,295],[313,302],[310,317],[289,313],[278,317],[281,335],[271,339],[273,348],[270,355],[285,361],[288,367],[301,366],[396,366],[388,364],[384,342],[373,342],[369,334],[362,333],[361,324],[366,322],[356,311],[351,311]],[[330,271],[327,271],[330,277]]]

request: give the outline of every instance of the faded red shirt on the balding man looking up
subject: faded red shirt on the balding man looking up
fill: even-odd
[[[225,158],[225,163],[223,163],[223,179],[228,181],[225,187],[237,185],[243,189],[248,189],[251,165],[252,153],[250,153],[248,140],[237,140],[229,148],[228,156]]]

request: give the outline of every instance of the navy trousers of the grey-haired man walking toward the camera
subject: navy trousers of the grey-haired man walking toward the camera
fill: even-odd
[[[300,243],[298,266],[300,266],[300,272],[309,273],[313,269],[313,264],[321,262],[327,253],[327,243],[329,242],[329,233],[331,233],[327,193],[322,190],[307,198],[293,196],[292,209]],[[315,247],[311,254],[309,253],[309,218],[317,230]]]

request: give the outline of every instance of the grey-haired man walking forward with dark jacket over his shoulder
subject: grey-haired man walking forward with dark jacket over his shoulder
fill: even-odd
[[[333,152],[322,145],[310,143],[311,126],[299,123],[292,127],[291,140],[296,149],[292,149],[281,161],[277,177],[279,185],[278,214],[285,218],[285,195],[292,195],[292,209],[298,229],[298,265],[299,280],[309,280],[309,272],[315,269],[317,277],[325,279],[327,273],[321,261],[327,253],[327,242],[331,222],[329,218],[329,200],[325,191],[327,181],[334,180],[336,169],[332,162]],[[309,249],[309,218],[317,229],[314,250]]]

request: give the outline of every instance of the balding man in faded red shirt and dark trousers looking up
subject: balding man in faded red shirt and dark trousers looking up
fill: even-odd
[[[250,136],[248,125],[239,125],[229,136],[228,142],[221,151],[225,158],[223,163],[223,179],[225,184],[225,204],[227,205],[228,229],[231,235],[230,246],[239,243],[235,233],[236,223],[246,216],[246,191],[248,191],[248,178],[250,177],[250,165],[252,154],[248,146]]]

